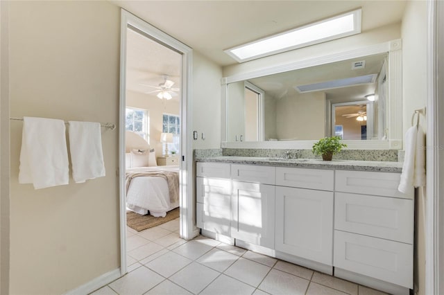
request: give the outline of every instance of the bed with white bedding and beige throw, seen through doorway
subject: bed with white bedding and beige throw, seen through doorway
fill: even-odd
[[[165,217],[179,206],[179,167],[157,166],[155,151],[133,132],[126,132],[125,162],[129,211]]]

